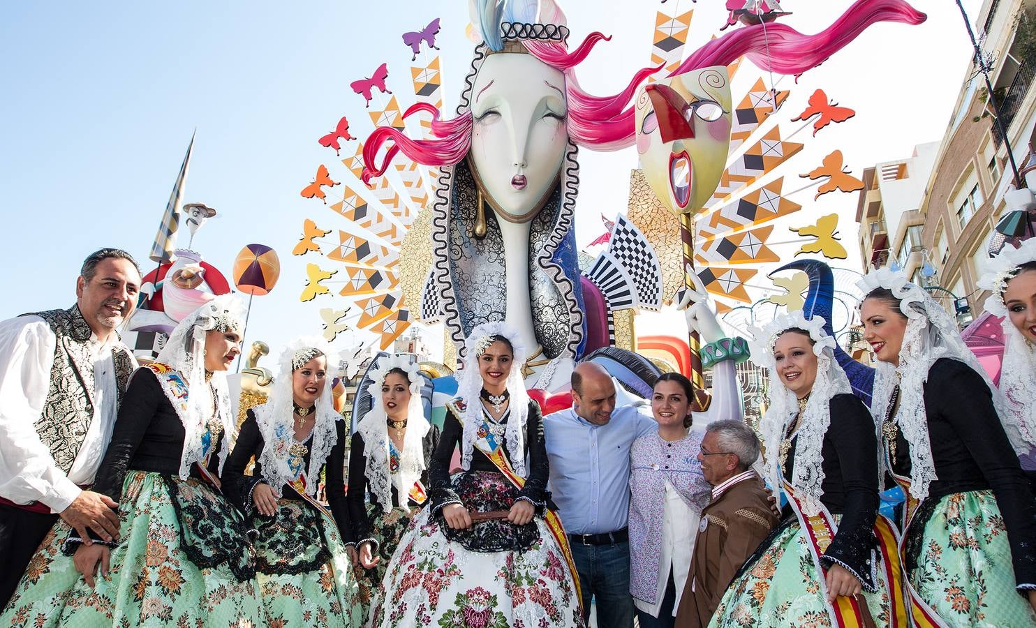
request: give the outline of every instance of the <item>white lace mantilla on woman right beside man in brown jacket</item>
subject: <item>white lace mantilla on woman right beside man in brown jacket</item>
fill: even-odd
[[[852,394],[845,371],[835,360],[835,339],[824,332],[824,318],[814,316],[806,319],[802,311],[782,314],[761,330],[752,330],[755,340],[751,343],[752,361],[770,371],[769,407],[759,425],[766,445],[766,469],[770,485],[782,485],[778,455],[781,440],[787,432],[788,424],[799,412],[799,402],[777,373],[774,359],[774,344],[787,330],[799,329],[809,334],[816,355],[816,379],[809,392],[806,412],[797,431],[795,449],[795,470],[792,486],[796,496],[802,502],[803,511],[810,516],[821,511],[821,488],[824,483],[824,435],[831,425],[831,398],[843,393]]]

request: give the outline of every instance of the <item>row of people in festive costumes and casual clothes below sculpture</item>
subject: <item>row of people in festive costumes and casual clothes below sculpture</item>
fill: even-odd
[[[860,318],[867,407],[824,320],[754,330],[758,433],[695,422],[665,373],[629,403],[578,364],[544,416],[503,323],[468,336],[441,428],[405,356],[355,432],[334,349],[292,341],[238,427],[219,296],[138,367],[115,330],[141,275],[89,256],[76,304],[0,322],[0,623],[11,626],[1036,625],[1036,239],[983,278],[994,386],[954,321],[891,270]],[[893,521],[879,493],[905,499]]]

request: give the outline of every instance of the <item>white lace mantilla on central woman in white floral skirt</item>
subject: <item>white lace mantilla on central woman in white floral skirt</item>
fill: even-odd
[[[518,332],[502,322],[483,323],[473,330],[464,341],[464,369],[457,373],[457,396],[464,400],[467,409],[460,419],[464,423],[464,435],[461,440],[460,465],[467,469],[471,466],[471,452],[474,441],[479,439],[479,427],[482,425],[482,373],[479,371],[479,358],[493,343],[495,337],[507,338],[514,349],[514,360],[511,361],[511,372],[508,373],[507,390],[511,394],[511,416],[503,436],[507,439],[508,458],[511,466],[519,476],[525,475],[525,420],[528,419],[528,393],[525,391],[525,378],[521,368],[525,364],[525,347],[518,338]]]

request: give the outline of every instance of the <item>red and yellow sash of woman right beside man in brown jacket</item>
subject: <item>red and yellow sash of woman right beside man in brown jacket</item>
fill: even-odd
[[[788,505],[792,506],[792,510],[795,511],[795,515],[799,519],[799,525],[806,533],[806,538],[809,540],[809,553],[813,558],[816,572],[821,574],[821,595],[828,606],[828,616],[831,618],[832,624],[841,628],[863,628],[864,626],[873,625],[873,619],[870,617],[866,603],[861,602],[859,598],[838,596],[835,598],[834,604],[828,601],[827,570],[821,563],[821,556],[827,551],[831,545],[831,541],[834,540],[835,535],[838,533],[838,525],[835,523],[834,517],[831,516],[831,513],[828,512],[828,509],[823,504],[821,504],[821,510],[816,515],[807,516],[802,510],[802,503],[795,494],[795,489],[792,488],[792,485],[787,481],[784,482],[784,493],[787,495]],[[892,628],[905,628],[911,624],[903,596],[905,578],[903,577],[902,564],[899,560],[898,539],[896,538],[895,527],[883,515],[877,515],[877,518],[874,520],[874,535],[877,537],[879,549],[884,559],[885,581],[888,588],[889,606],[891,609],[889,626]]]

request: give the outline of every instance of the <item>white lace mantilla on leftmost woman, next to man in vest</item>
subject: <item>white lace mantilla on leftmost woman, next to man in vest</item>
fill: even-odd
[[[238,335],[243,329],[243,307],[230,294],[217,296],[191,314],[188,314],[166,340],[166,346],[159,353],[156,362],[179,371],[188,384],[186,403],[179,400],[170,390],[169,381],[159,378],[162,389],[173,404],[176,415],[183,424],[183,451],[180,454],[180,478],[191,475],[191,465],[205,459],[204,437],[208,423],[214,419],[223,426],[223,445],[220,449],[220,472],[227,459],[230,434],[234,433],[234,419],[230,413],[230,390],[227,388],[227,372],[215,371],[205,382],[205,336],[217,330],[233,331]],[[209,393],[211,391],[211,393]],[[213,399],[215,417],[212,416]],[[215,437],[212,434],[211,437]]]

